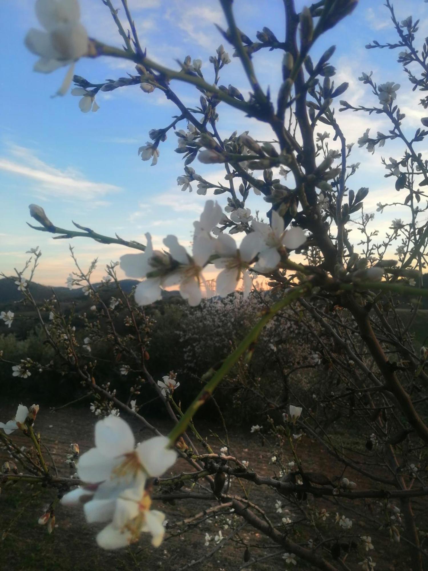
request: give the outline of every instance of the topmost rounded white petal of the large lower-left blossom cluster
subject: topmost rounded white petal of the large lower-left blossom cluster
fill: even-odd
[[[130,425],[118,416],[107,416],[95,425],[95,445],[104,456],[122,456],[134,450]]]

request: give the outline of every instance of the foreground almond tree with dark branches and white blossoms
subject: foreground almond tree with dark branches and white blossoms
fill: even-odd
[[[335,113],[337,100],[348,85],[334,85],[335,68],[330,62],[334,47],[317,62],[310,57],[317,39],[332,35],[334,26],[354,9],[357,0],[320,0],[301,13],[296,12],[293,0],[284,0],[285,37],[278,39],[264,27],[257,33],[257,41],[237,27],[232,1],[220,0],[228,29],[219,31],[247,76],[251,87],[248,99],[233,85],[219,85],[221,70],[231,63],[223,45],[209,58],[207,70],[202,69],[200,60],[189,56],[179,70],[167,69],[150,58],[150,47],[143,49],[140,44],[126,0],[122,7],[127,22],[110,0],[102,1],[118,26],[123,49],[88,38],[79,23],[76,0],[37,0],[37,16],[45,31],[30,30],[26,37],[27,47],[40,57],[35,70],[50,73],[69,65],[58,93],[65,94],[74,81],[71,93],[81,97],[83,112],[98,109],[95,98],[99,91],[140,85],[148,94],[163,92],[179,114],[167,127],[149,132],[150,142],[140,147],[139,155],[155,166],[161,160],[161,143],[174,132],[176,152],[185,159],[184,174],[177,178],[181,191],[192,191],[196,184],[198,195],[210,191],[227,200],[223,207],[214,200],[205,202],[194,223],[191,253],[173,235],[164,238],[163,250],[154,250],[150,234],[146,234],[146,244],[140,244],[103,236],[78,224],[78,231],[59,228],[41,207],[30,206],[31,216],[41,224],[35,230],[51,232],[56,238],[83,236],[138,251],[122,256],[120,267],[127,276],[142,281],[132,296],[126,295],[116,276],[117,264],[110,264],[105,281],[116,284],[119,297],[106,303],[91,282],[95,264],[83,271],[75,260],[76,272],[67,282],[70,287],[83,287],[94,302],[91,311],[93,308],[98,315],[90,319],[84,314],[85,333],[80,339],[55,299],[46,302],[42,309],[49,312],[49,318],[43,317],[28,288],[40,252],[30,252],[32,262],[17,273],[15,284],[27,303],[37,309],[46,340],[59,357],[58,366],[73,373],[94,396],[91,410],[100,420],[95,424],[95,447],[79,457],[78,445],[72,444],[67,460],[76,467],[76,475],[63,477],[52,472],[41,437],[34,432],[38,406],[27,409],[19,405],[15,419],[0,424],[4,432],[1,442],[11,455],[3,466],[2,480],[51,486],[53,504],[40,521],[50,528],[58,498],[65,504],[83,504],[88,522],[106,524],[97,536],[98,545],[105,549],[138,542],[142,532],[150,533],[152,544],[159,546],[165,533],[185,533],[195,522],[216,518],[215,532],[207,528],[201,534],[201,555],[183,562],[183,570],[200,565],[239,538],[241,569],[282,556],[286,566],[370,571],[377,565],[372,556],[375,543],[403,538],[403,566],[410,558],[410,568],[422,571],[427,565],[426,520],[424,524],[419,518],[420,510],[426,510],[426,504],[420,502],[428,494],[428,425],[424,420],[428,351],[415,347],[411,323],[421,297],[427,296],[422,272],[428,224],[424,216],[427,206],[422,204],[428,161],[418,151],[418,143],[428,134],[423,129],[428,118],[422,120],[421,128],[409,132],[398,106],[400,86],[394,82],[378,85],[371,73],[363,73],[360,81],[371,89],[373,104],[356,107],[345,100],[339,102],[339,111],[379,114],[390,121],[388,134],[370,136],[368,127],[358,139],[360,147],[375,152],[392,139],[403,144],[401,157],[382,161],[386,176],[395,180],[399,193],[395,204],[400,204],[407,216],[393,220],[391,231],[378,238],[378,231],[370,226],[373,215],[364,211],[369,189],[355,191],[351,187],[358,164],[349,164],[353,142],[346,141]],[[422,49],[415,45],[418,22],[409,17],[399,23],[389,0],[386,9],[397,42],[373,42],[366,47],[404,50],[399,51],[398,61],[407,79],[414,90],[426,91],[428,48],[426,42]],[[257,81],[252,63],[252,54],[267,49],[284,54],[276,100]],[[99,84],[73,76],[79,58],[100,55],[134,63],[135,75]],[[194,107],[186,106],[173,90],[172,85],[179,89],[180,82],[199,92]],[[421,104],[427,108],[428,98],[421,99]],[[259,142],[249,131],[240,135],[235,131],[223,138],[219,125],[224,106],[265,123],[272,129],[273,142]],[[328,131],[318,132],[320,123]],[[330,147],[330,135],[337,150]],[[190,166],[196,158],[201,163],[222,164],[226,183],[197,174]],[[246,206],[251,193],[269,204],[266,219],[252,215]],[[378,211],[388,206],[379,202]],[[352,243],[352,228],[360,230],[361,242]],[[240,235],[239,247],[234,234]],[[397,256],[389,259],[386,255],[397,240]],[[209,266],[219,270],[218,297],[201,301],[207,289],[204,271]],[[252,291],[256,276],[265,280],[261,292]],[[233,293],[240,283],[242,293]],[[184,376],[177,380],[171,372],[156,381],[147,362],[154,327],[150,306],[171,286],[179,286],[181,297],[196,307],[189,309],[189,327],[181,334],[181,343],[187,359],[183,372],[194,375],[201,389],[183,409],[177,394],[186,382]],[[410,321],[397,311],[403,299],[411,305]],[[122,311],[125,316],[119,313]],[[241,339],[219,349],[220,360],[208,363],[208,370],[201,374],[195,364],[206,357],[204,341],[211,343],[211,337],[204,339],[198,326],[211,316],[216,330],[222,329],[223,339],[235,340],[236,329],[224,319],[232,312],[234,323],[241,319]],[[116,326],[119,315],[128,328],[126,334]],[[9,327],[13,318],[11,311],[1,314]],[[227,333],[223,327],[229,327]],[[259,342],[265,347],[265,361],[261,365],[259,361],[257,368],[254,361]],[[221,347],[221,339],[218,343]],[[96,350],[92,349],[102,344],[116,356],[120,375],[132,373],[125,397],[110,383],[97,380],[92,356]],[[26,379],[36,369],[51,366],[25,360],[13,364],[13,375]],[[305,376],[296,380],[296,372],[301,375],[302,370]],[[269,371],[282,377],[284,391],[272,390]],[[138,412],[143,404],[138,403],[143,381],[156,391],[171,417],[173,427],[167,436]],[[264,405],[251,428],[253,437],[260,438],[272,454],[262,473],[251,461],[233,455],[233,443],[206,439],[193,423],[198,409],[209,399],[215,400],[214,392],[222,381]],[[119,417],[122,412],[151,431],[152,438],[135,445],[129,425]],[[348,431],[350,423],[354,444],[348,447],[337,435]],[[35,458],[14,444],[17,430],[31,440]],[[329,469],[312,469],[305,457],[305,439],[329,455]],[[162,477],[177,457],[187,463],[187,469],[180,464],[173,476]],[[15,462],[21,465],[21,472]],[[272,513],[249,500],[249,485],[262,486],[265,494],[270,493]],[[64,494],[64,489],[69,491]],[[156,500],[185,503],[191,499],[203,504],[203,511],[180,521],[168,517],[165,524],[164,513],[151,509]],[[363,534],[358,520],[364,520],[370,531]],[[269,538],[270,544],[264,545],[259,555],[250,551],[249,541],[240,538],[243,526],[258,537]]]

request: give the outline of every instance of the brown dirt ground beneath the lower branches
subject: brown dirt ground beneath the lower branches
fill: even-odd
[[[16,405],[11,403],[0,403],[0,419],[5,421],[13,417],[15,407]],[[47,463],[49,465],[55,463],[59,475],[70,475],[70,469],[65,463],[70,443],[78,443],[80,453],[92,447],[94,423],[95,418],[88,411],[88,407],[67,408],[56,412],[50,412],[49,409],[41,407],[35,428],[41,433],[42,441],[51,453],[51,458],[46,454]],[[167,433],[170,428],[166,421],[159,423],[159,421],[154,420],[154,423],[164,433]],[[137,441],[151,436],[145,429],[137,427],[135,423],[134,428]],[[221,427],[215,425],[201,427],[199,425],[199,428],[202,435],[209,436],[212,447],[218,450],[220,445],[212,433],[223,436]],[[248,460],[251,467],[260,472],[261,475],[273,474],[272,465],[269,465],[270,450],[261,445],[257,435],[252,435],[249,429],[231,428],[229,429],[229,437],[235,446],[231,449],[233,455]],[[14,441],[19,446],[29,445],[29,440],[18,432],[14,433]],[[322,451],[318,445],[306,438],[301,447],[304,449],[302,456],[306,459],[307,470],[319,472],[325,470],[326,473],[332,473],[334,463],[332,463],[331,457]],[[3,464],[5,460],[7,460],[6,452],[0,449],[0,464]],[[177,463],[174,467],[175,473],[180,471],[180,467],[183,471],[189,472],[187,464]],[[266,494],[263,486],[245,483],[245,488],[249,499],[260,505],[274,524],[280,524],[281,517],[286,515],[285,511],[282,514],[276,513],[274,505],[276,499],[282,500],[284,510],[287,507],[292,509],[292,506],[286,504],[288,500],[270,492]],[[243,490],[239,488],[239,484],[236,482],[229,493],[242,495]],[[211,520],[199,522],[184,534],[177,534],[176,530],[167,532],[165,541],[159,549],[152,548],[148,536],[143,534],[138,545],[133,545],[131,548],[119,552],[106,553],[99,549],[95,543],[96,533],[102,526],[86,524],[82,510],[78,508],[67,508],[59,505],[55,512],[56,527],[52,534],[47,533],[45,526],[38,525],[38,518],[54,498],[55,490],[41,488],[39,485],[34,486],[33,489],[29,487],[29,484],[2,486],[0,494],[1,571],[83,571],[87,569],[103,569],[103,571],[164,569],[179,571],[185,567],[185,562],[197,561],[216,547],[213,540],[209,546],[204,545],[206,532],[215,536],[221,529],[223,536],[227,537],[233,529],[233,514],[228,514],[225,517],[217,518],[215,521],[211,518]],[[174,522],[214,505],[216,505],[215,501],[202,503],[193,500],[186,501],[185,504],[184,502],[177,502],[176,505],[156,502],[154,508],[163,510],[167,514],[168,521]],[[320,508],[323,506],[319,504]],[[325,507],[331,514],[330,518],[334,517],[338,509],[344,513],[341,508],[332,504],[326,504]],[[369,530],[365,522],[359,521],[355,514],[349,513],[347,515],[354,520],[353,534],[357,536],[372,535],[372,541],[375,544],[375,551],[372,552],[373,560],[377,562],[375,571],[396,569],[406,571],[410,569],[402,544],[392,544],[389,537],[386,537],[386,532],[378,532],[374,537],[373,528]],[[228,524],[226,518],[232,521],[231,525]],[[228,528],[225,529],[225,525],[228,525]],[[298,536],[300,534],[300,537],[293,537],[293,540],[304,541],[305,529],[299,529],[297,526],[297,534]],[[301,561],[297,561],[296,567],[286,565],[281,557],[281,549],[273,545],[273,542],[268,538],[249,528],[248,525],[235,534],[233,541],[228,542],[227,547],[216,550],[211,557],[198,562],[191,569],[238,571],[244,565],[244,544],[249,546],[251,560],[260,558],[264,554],[277,553],[265,561],[246,566],[245,569],[252,571],[268,569],[276,571],[287,568],[310,569]],[[357,561],[359,560],[361,558],[357,559]],[[355,557],[352,557],[352,561],[355,561]],[[354,564],[354,562],[347,562],[347,565],[349,565],[346,567],[347,569],[361,569],[361,566]]]

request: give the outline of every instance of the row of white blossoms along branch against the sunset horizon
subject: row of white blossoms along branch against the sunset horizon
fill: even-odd
[[[200,220],[193,223],[192,255],[181,246],[176,236],[168,235],[163,243],[169,252],[154,250],[150,234],[146,234],[147,246],[143,254],[126,254],[120,258],[120,267],[130,278],[144,278],[135,290],[135,300],[147,305],[161,299],[161,289],[179,284],[181,296],[190,305],[198,305],[202,299],[201,286],[205,284],[204,267],[213,263],[220,273],[216,278],[216,293],[225,297],[235,291],[243,280],[244,297],[251,291],[249,269],[257,272],[274,270],[286,250],[294,250],[305,243],[301,228],[285,231],[284,220],[272,211],[271,224],[252,220],[252,232],[245,235],[240,247],[228,234],[213,235],[223,218],[217,202],[207,200]]]

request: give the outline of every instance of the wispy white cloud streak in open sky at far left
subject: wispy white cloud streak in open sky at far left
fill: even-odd
[[[55,168],[39,159],[33,150],[14,144],[9,146],[9,156],[0,156],[0,170],[32,180],[35,186],[31,190],[42,198],[95,200],[99,205],[105,204],[99,200],[103,196],[122,190],[114,184],[88,180],[72,167]]]

